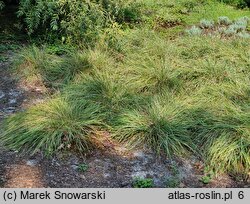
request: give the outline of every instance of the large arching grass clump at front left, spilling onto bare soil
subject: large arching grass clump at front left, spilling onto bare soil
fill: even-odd
[[[90,136],[101,125],[98,105],[87,101],[69,103],[58,97],[9,117],[3,125],[1,142],[31,154],[42,150],[51,155],[67,148],[82,153],[91,148]]]

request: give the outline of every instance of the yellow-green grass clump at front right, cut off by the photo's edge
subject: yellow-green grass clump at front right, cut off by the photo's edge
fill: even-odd
[[[194,117],[197,122],[193,125],[195,143],[203,149],[201,153],[207,165],[216,174],[231,172],[247,175],[250,170],[247,101],[236,106],[232,99],[219,93],[217,96],[207,94],[206,97],[199,102],[203,110],[196,112]]]

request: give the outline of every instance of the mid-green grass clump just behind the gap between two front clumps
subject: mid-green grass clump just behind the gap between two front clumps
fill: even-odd
[[[99,71],[82,76],[77,83],[66,87],[64,93],[72,100],[98,103],[108,111],[127,106],[132,100],[126,84],[122,85],[110,73]]]

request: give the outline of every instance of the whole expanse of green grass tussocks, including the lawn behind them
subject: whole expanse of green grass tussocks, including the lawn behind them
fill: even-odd
[[[247,176],[249,9],[199,0],[140,6],[138,23],[114,23],[90,48],[30,45],[17,53],[17,77],[52,94],[5,121],[4,145],[85,152],[105,130],[130,148],[196,155],[209,171]]]

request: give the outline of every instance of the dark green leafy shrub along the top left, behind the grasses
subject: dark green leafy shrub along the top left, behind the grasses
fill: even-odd
[[[138,19],[135,3],[115,0],[21,0],[18,16],[29,34],[92,44],[110,22]]]

